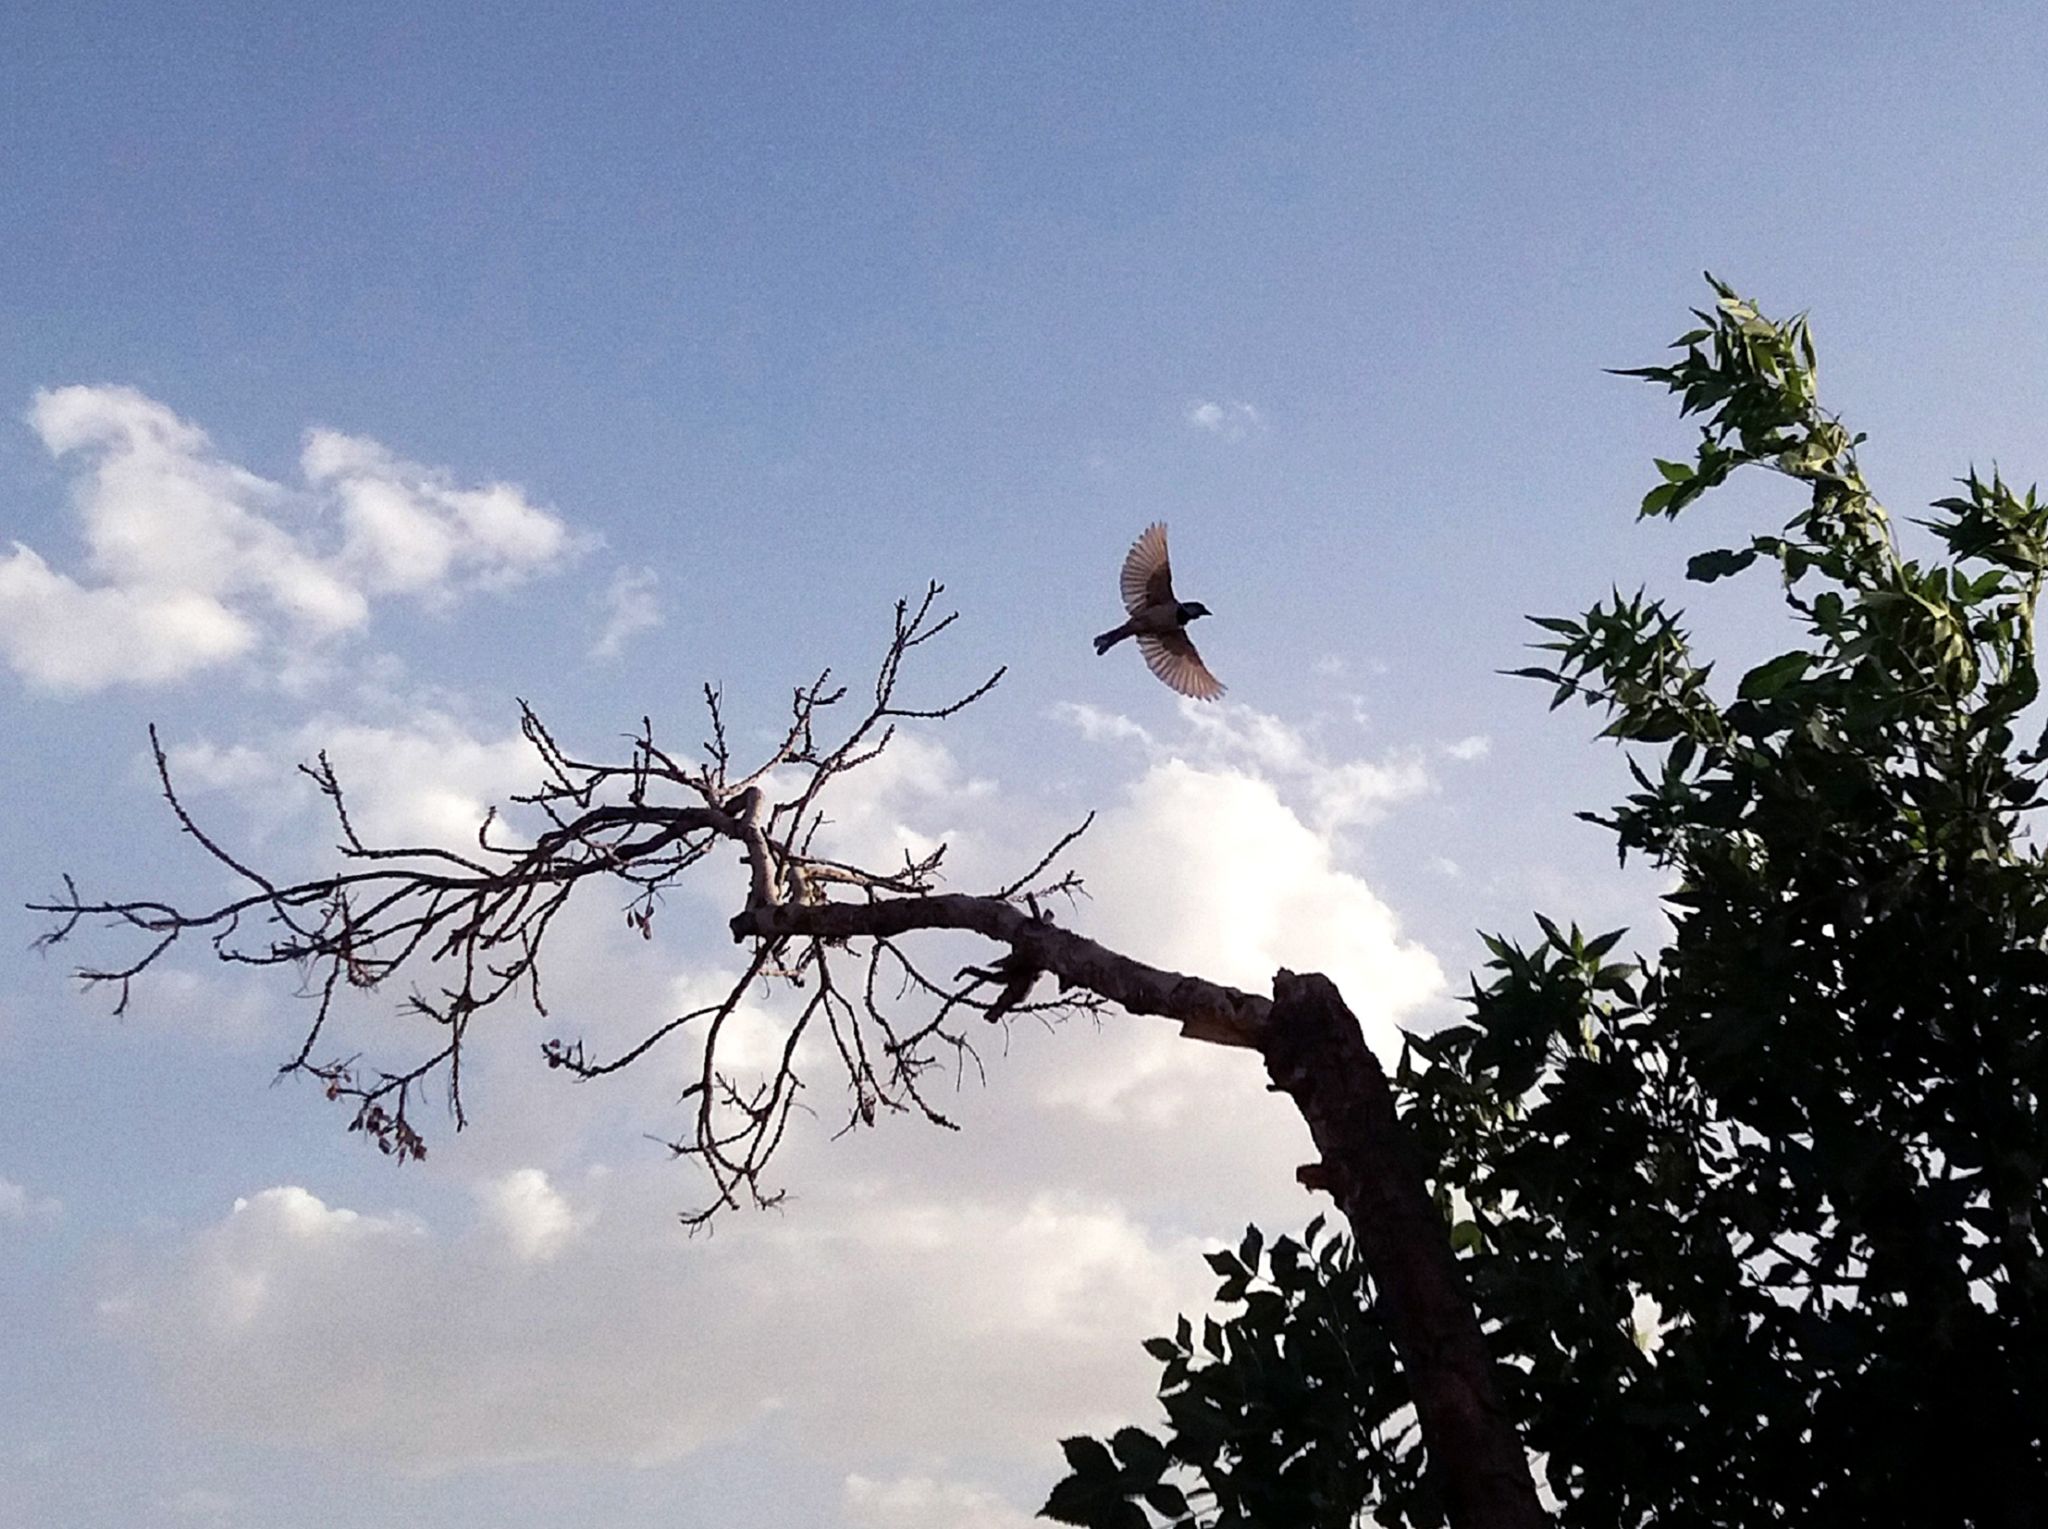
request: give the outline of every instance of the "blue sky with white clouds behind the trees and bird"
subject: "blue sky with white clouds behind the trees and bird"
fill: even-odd
[[[1638,526],[1690,426],[1640,385],[1704,268],[1812,313],[1898,514],[2042,471],[2048,37],[1999,4],[16,4],[0,16],[0,1529],[1018,1529],[1057,1439],[1151,1421],[1200,1251],[1292,1230],[1253,1058],[1112,1013],[836,1136],[690,1238],[688,1058],[592,1085],[733,970],[735,880],[653,940],[590,888],[547,1019],[473,1040],[469,1128],[395,1169],[272,1085],[305,1005],[178,950],[125,1015],[23,903],[205,903],[358,825],[463,841],[586,753],[741,749],[879,657],[997,690],[850,778],[860,854],[950,886],[1083,813],[1065,915],[1247,989],[1327,970],[1389,1052],[1479,929],[1659,933],[1573,813],[1624,788],[1501,678],[1532,612],[1649,583],[1739,673],[1769,589],[1683,559],[1769,483]],[[1130,649],[1171,526],[1229,696]],[[399,993],[350,1046],[408,1054]],[[766,1044],[786,1015],[748,1015]]]

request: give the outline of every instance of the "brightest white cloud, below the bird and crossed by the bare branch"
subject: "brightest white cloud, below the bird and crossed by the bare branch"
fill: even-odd
[[[1137,743],[1149,761],[1077,845],[1092,937],[1251,993],[1270,993],[1282,966],[1325,972],[1382,1056],[1399,1048],[1403,1019],[1442,999],[1436,956],[1339,864],[1343,829],[1432,788],[1419,755],[1331,757],[1280,718],[1231,704],[1184,706],[1171,741],[1092,706],[1059,716],[1090,741]],[[1044,1079],[1040,1097],[1149,1132],[1257,1122],[1260,1161],[1278,1167],[1300,1150],[1298,1122],[1264,1083],[1255,1062],[1190,1046],[1171,1025],[1118,1025],[1090,1066]]]

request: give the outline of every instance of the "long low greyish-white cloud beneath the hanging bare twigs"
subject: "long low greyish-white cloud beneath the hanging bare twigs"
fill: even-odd
[[[274,1187],[100,1310],[219,1433],[430,1472],[659,1464],[770,1412],[848,1461],[1042,1447],[1133,1404],[1135,1337],[1206,1283],[1192,1244],[1061,1195],[846,1195],[696,1242],[641,1199],[606,1228],[535,1261],[492,1218]]]

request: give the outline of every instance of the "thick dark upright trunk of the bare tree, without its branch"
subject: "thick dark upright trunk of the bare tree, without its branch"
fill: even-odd
[[[1335,985],[1274,976],[1260,1034],[1266,1071],[1321,1152],[1317,1187],[1337,1199],[1415,1396],[1430,1474],[1454,1529],[1538,1529],[1528,1453],[1493,1386],[1473,1294],[1450,1251],[1393,1091]]]

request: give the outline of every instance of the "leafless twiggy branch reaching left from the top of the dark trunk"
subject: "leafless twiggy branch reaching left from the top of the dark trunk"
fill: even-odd
[[[311,1017],[281,1075],[311,1077],[330,1099],[352,1105],[350,1130],[414,1159],[426,1152],[416,1113],[430,1091],[444,1093],[457,1128],[465,1122],[463,1058],[477,1017],[514,997],[547,1013],[547,931],[584,882],[618,888],[627,925],[651,937],[666,890],[729,845],[748,868],[743,903],[729,921],[748,960],[723,997],[653,1025],[612,1056],[590,1056],[582,1040],[569,1038],[541,1048],[549,1066],[588,1081],[633,1066],[678,1036],[696,1042],[682,1089],[690,1128],[670,1142],[711,1179],[709,1204],[690,1220],[776,1197],[764,1171],[805,1095],[799,1058],[809,1056],[803,1042],[813,1036],[825,1042],[846,1087],[846,1126],[883,1113],[950,1124],[924,1089],[938,1066],[950,1066],[956,1079],[967,1066],[979,1071],[963,1021],[1051,1019],[1114,1003],[1180,1019],[1202,1040],[1255,1044],[1266,999],[1145,966],[1061,929],[1044,913],[1042,899],[1081,894],[1079,878],[1055,866],[1092,817],[1022,876],[981,897],[940,890],[944,845],[905,856],[899,866],[858,866],[819,847],[834,782],[881,755],[899,725],[942,723],[1001,680],[997,669],[938,704],[905,698],[905,659],[954,622],[938,612],[940,594],[934,583],[922,600],[897,604],[874,682],[842,731],[827,735],[827,725],[850,692],[827,669],[791,692],[786,727],[745,774],[735,770],[725,698],[713,686],[705,688],[709,737],[692,761],[657,743],[645,716],[627,735],[623,757],[582,757],[520,702],[520,733],[535,751],[539,784],[516,794],[510,811],[530,827],[522,835],[492,809],[467,851],[367,843],[322,753],[301,772],[334,815],[338,864],[303,882],[264,876],[199,823],[152,729],[158,782],[178,827],[244,890],[188,909],[158,899],[90,901],[66,880],[61,897],[33,905],[53,917],[39,944],[72,940],[84,921],[139,933],[135,958],[78,972],[88,987],[113,989],[117,1009],[127,1007],[135,978],[182,942],[205,942],[217,960],[236,966],[293,968]],[[950,985],[928,976],[905,944],[944,929],[995,946]],[[1057,978],[1057,993],[1034,1003],[1040,976]],[[393,980],[410,982],[399,1007],[422,1021],[432,1044],[401,1064],[328,1052],[342,997]],[[721,1042],[741,1007],[774,989],[801,995],[780,1060],[764,1079],[733,1077],[721,1062]]]

